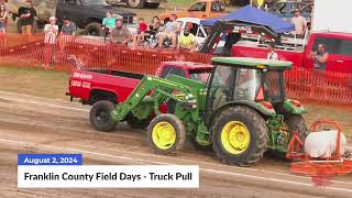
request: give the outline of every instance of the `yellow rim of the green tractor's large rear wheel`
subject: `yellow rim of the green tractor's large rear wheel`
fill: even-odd
[[[249,147],[250,141],[250,131],[242,122],[229,122],[221,131],[221,143],[231,154],[243,153]]]

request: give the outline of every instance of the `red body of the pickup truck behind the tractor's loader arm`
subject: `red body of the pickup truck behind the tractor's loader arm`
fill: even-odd
[[[156,76],[167,78],[169,75],[200,80],[206,82],[211,65],[190,62],[164,62],[156,70]],[[118,70],[73,70],[69,78],[69,92],[73,98],[79,98],[82,105],[92,106],[99,100],[113,103],[123,102],[139,85],[143,75]]]

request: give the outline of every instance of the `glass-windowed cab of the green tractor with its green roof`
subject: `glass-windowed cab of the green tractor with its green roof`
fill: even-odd
[[[212,76],[209,79],[207,108],[210,114],[224,106],[242,103],[263,106],[273,110],[273,105],[285,100],[284,70],[292,68],[290,62],[244,57],[215,57]]]

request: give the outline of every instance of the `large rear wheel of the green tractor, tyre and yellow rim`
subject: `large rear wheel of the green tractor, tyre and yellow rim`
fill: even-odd
[[[221,112],[212,132],[213,150],[227,164],[248,166],[260,161],[266,151],[265,120],[249,107],[237,106]]]

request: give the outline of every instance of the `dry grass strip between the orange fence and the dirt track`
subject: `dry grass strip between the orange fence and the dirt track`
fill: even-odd
[[[16,68],[0,66],[1,90],[28,94],[43,98],[68,100],[65,92],[68,90],[69,74],[63,72]],[[316,120],[336,120],[345,134],[352,140],[352,111],[351,109],[332,109],[326,107],[308,106],[305,116],[308,124]]]

